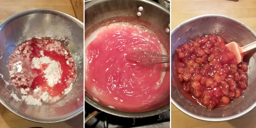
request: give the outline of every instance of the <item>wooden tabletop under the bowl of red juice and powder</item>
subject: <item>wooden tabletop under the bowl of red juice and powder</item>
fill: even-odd
[[[0,22],[17,12],[34,8],[54,9],[76,16],[70,0],[0,0]],[[83,128],[83,126],[83,114],[62,123],[41,124],[22,119],[0,105],[0,128]]]

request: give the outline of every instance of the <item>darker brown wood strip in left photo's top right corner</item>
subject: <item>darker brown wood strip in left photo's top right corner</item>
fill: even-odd
[[[71,0],[76,18],[84,22],[84,0]]]

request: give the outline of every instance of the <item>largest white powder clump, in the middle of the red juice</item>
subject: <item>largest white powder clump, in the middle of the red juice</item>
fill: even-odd
[[[50,87],[53,87],[55,84],[58,83],[58,81],[61,78],[61,69],[60,64],[56,62],[55,60],[51,60],[49,57],[41,57],[41,58],[33,58],[32,63],[34,65],[34,68],[40,69],[42,68],[42,64],[48,64],[47,69],[45,69],[44,72],[44,78],[46,78],[47,84]]]

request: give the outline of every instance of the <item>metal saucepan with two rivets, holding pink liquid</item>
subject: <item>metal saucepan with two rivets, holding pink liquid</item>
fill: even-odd
[[[138,7],[142,6],[142,16],[138,17]],[[166,32],[166,28],[169,29],[170,12],[164,6],[151,1],[151,0],[94,0],[85,4],[85,40],[90,33],[102,26],[103,23],[113,20],[121,21],[134,21],[141,25],[144,25],[153,30],[164,41],[168,54],[170,53],[170,33]],[[88,44],[85,42],[85,47]],[[86,64],[87,62],[85,62]],[[167,73],[170,74],[170,65],[167,68]],[[170,77],[165,75],[164,80],[168,81],[165,84],[170,85]],[[86,84],[85,84],[86,87]],[[170,88],[169,88],[170,89]],[[159,92],[161,93],[161,92]],[[102,112],[112,114],[119,117],[126,118],[142,118],[153,116],[170,109],[170,91],[166,94],[166,97],[161,101],[158,101],[158,106],[149,108],[147,110],[141,110],[136,112],[125,112],[106,107],[106,105],[94,100],[92,96],[85,91],[85,102],[91,106],[97,108]],[[98,112],[93,112],[89,115],[85,122],[91,117],[95,116]]]

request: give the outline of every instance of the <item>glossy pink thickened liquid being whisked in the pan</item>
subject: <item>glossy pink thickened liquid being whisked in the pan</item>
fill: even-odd
[[[85,90],[94,100],[117,110],[149,108],[170,88],[161,85],[164,64],[140,66],[130,60],[131,53],[142,50],[166,52],[158,37],[142,28],[108,25],[99,31],[85,50]]]

